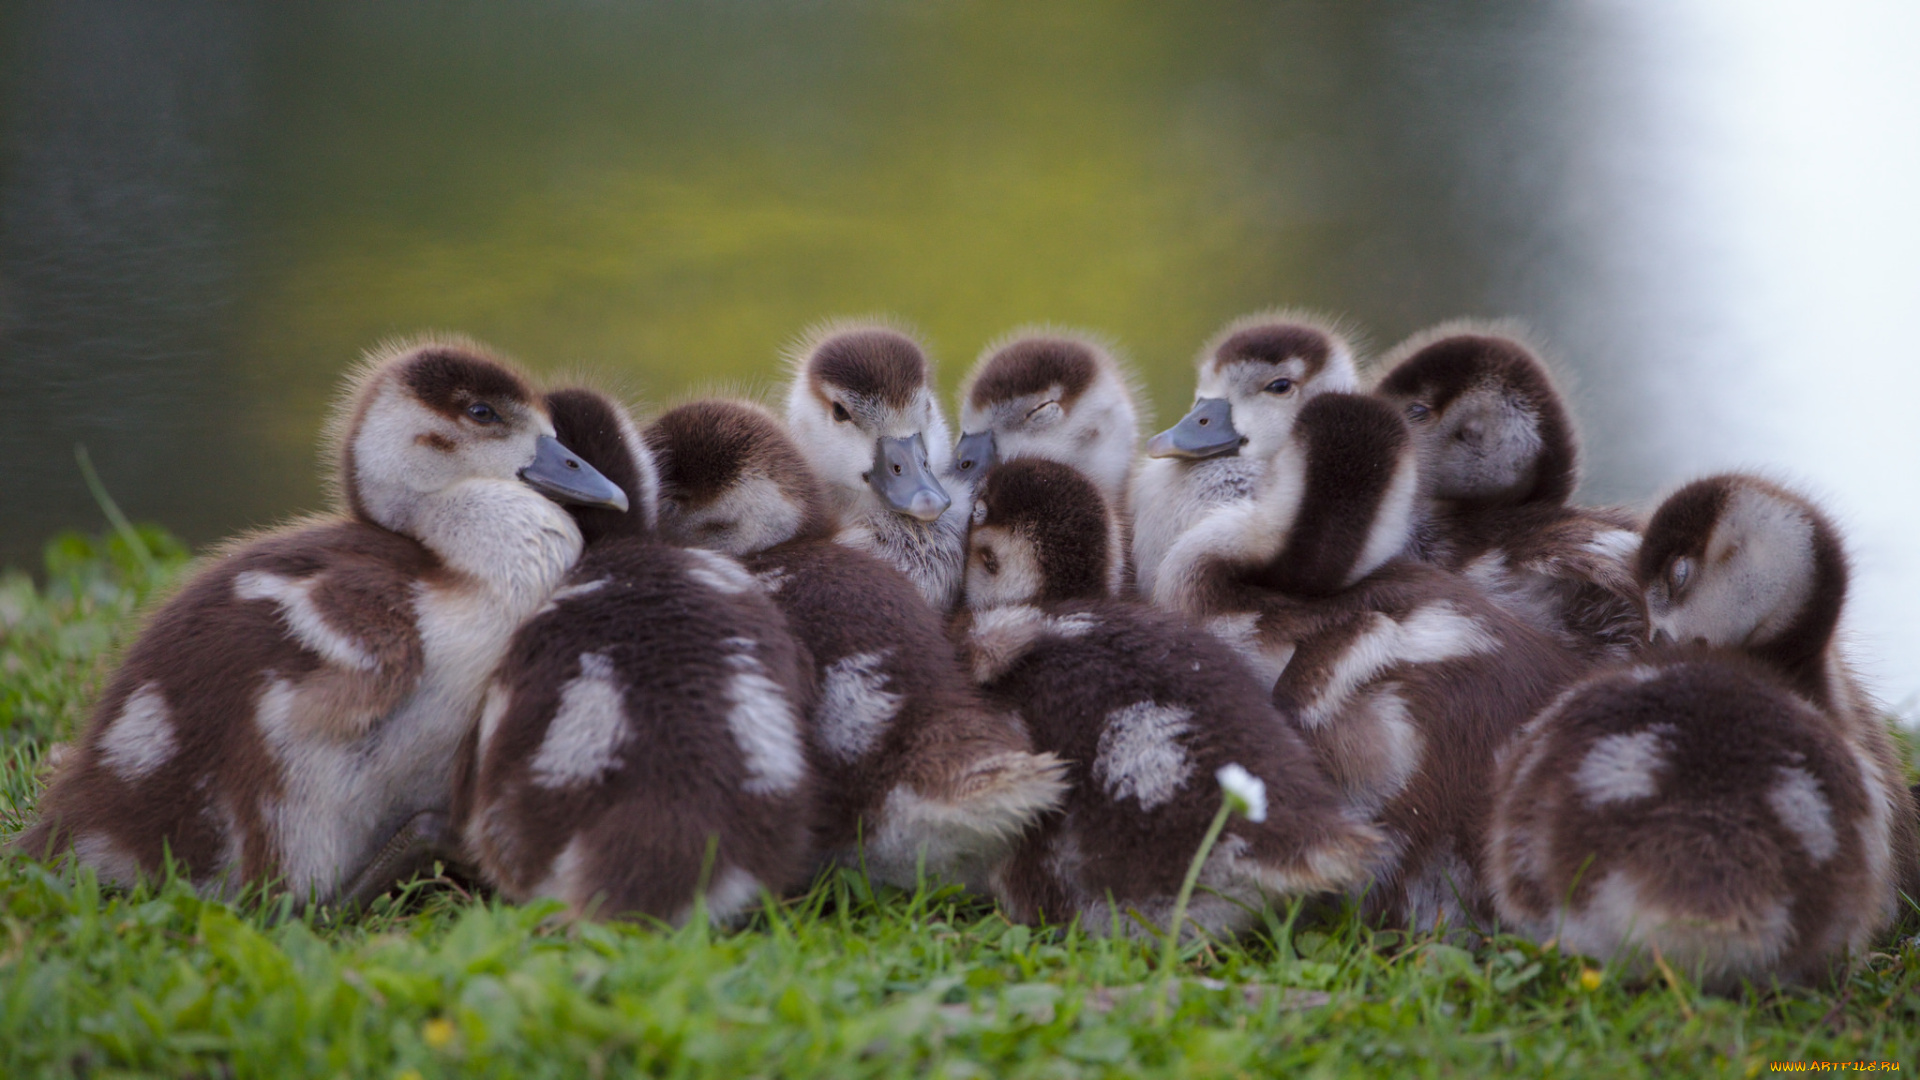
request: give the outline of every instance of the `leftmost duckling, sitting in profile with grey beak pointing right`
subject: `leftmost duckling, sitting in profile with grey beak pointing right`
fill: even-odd
[[[148,623],[15,840],[104,880],[367,901],[451,853],[486,673],[626,496],[465,340],[376,350],[330,429],[342,509],[219,552]]]

